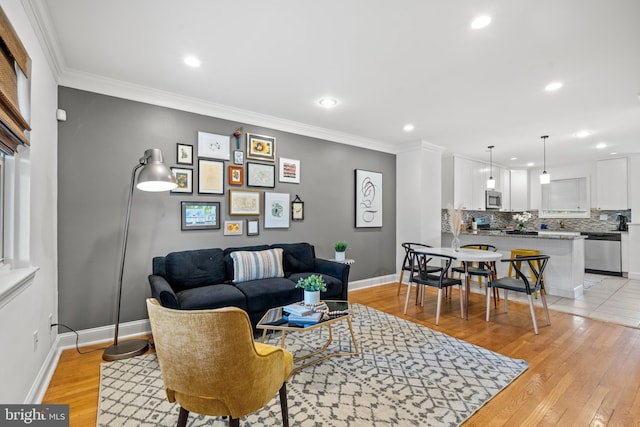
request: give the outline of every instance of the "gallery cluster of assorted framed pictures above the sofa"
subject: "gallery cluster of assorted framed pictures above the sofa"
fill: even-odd
[[[230,136],[198,131],[196,144],[176,144],[176,166],[171,170],[178,187],[171,192],[193,194],[195,181],[199,196],[223,197],[219,201],[181,201],[181,230],[222,229],[225,236],[257,236],[261,216],[265,229],[289,228],[290,220],[304,220],[304,202],[297,194],[290,201],[289,193],[267,191],[275,189],[276,182],[299,184],[300,160],[277,158],[275,137],[246,133],[244,147],[241,137],[241,128]],[[223,211],[231,219],[221,220]],[[239,218],[242,216],[250,218]]]

